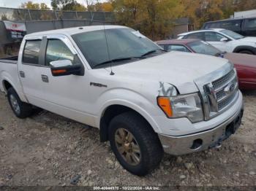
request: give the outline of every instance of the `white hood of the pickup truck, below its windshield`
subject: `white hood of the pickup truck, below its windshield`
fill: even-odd
[[[180,93],[193,93],[198,91],[195,79],[206,76],[227,63],[226,59],[214,56],[173,51],[114,66],[113,71],[127,79],[170,83]]]

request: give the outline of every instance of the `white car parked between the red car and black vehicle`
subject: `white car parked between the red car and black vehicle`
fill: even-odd
[[[256,54],[256,37],[244,37],[222,28],[179,34],[178,39],[201,39],[221,51]]]

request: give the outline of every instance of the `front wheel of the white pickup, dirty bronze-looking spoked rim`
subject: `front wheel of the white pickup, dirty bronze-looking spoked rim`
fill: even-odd
[[[126,144],[124,139],[120,139],[121,132],[125,135],[124,137],[130,138],[126,140],[130,143]],[[164,152],[157,133],[143,117],[135,112],[125,112],[114,117],[108,128],[108,136],[117,160],[132,174],[145,176],[157,168],[162,160]],[[133,154],[130,155],[127,149],[134,151]]]

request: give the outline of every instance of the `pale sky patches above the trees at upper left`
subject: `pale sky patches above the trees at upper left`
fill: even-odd
[[[32,1],[33,3],[45,3],[50,7],[50,0],[0,0],[0,7],[18,8],[20,4]],[[86,5],[86,0],[77,0],[78,3]]]

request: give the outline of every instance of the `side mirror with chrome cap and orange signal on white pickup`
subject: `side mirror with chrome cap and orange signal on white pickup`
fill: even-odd
[[[84,75],[84,68],[83,65],[74,64],[69,60],[62,60],[62,61],[52,61],[50,62],[50,70],[53,74],[53,77],[61,77],[61,76],[68,76],[68,75],[77,75],[83,76]]]

